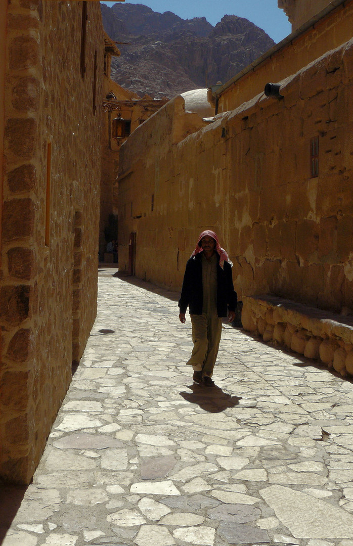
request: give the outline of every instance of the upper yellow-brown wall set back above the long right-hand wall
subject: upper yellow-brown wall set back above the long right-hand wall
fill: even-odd
[[[251,72],[235,81],[219,97],[219,112],[237,108],[261,93],[268,82],[277,83],[330,49],[335,49],[352,37],[353,2],[337,9],[276,52]]]

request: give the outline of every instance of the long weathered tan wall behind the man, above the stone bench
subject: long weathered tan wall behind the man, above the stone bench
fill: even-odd
[[[353,308],[353,40],[186,138],[177,98],[121,147],[120,269],[173,289],[204,228],[243,295]],[[172,138],[174,135],[174,139]],[[319,176],[310,143],[319,138]],[[154,210],[151,210],[154,195]]]

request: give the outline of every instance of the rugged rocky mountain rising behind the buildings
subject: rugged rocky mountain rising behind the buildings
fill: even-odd
[[[274,45],[261,28],[236,15],[213,27],[205,17],[184,20],[142,4],[101,8],[105,32],[120,42],[111,78],[140,96],[172,98],[225,83]]]

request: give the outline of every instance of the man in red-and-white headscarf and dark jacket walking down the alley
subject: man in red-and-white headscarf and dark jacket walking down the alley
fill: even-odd
[[[232,262],[221,248],[215,232],[201,233],[187,261],[179,300],[179,320],[185,323],[189,305],[193,349],[186,364],[192,366],[192,379],[208,387],[217,358],[222,333],[222,317],[234,321],[237,294],[232,280]]]

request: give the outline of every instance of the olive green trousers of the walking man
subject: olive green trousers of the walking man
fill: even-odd
[[[222,319],[216,313],[191,314],[193,349],[186,364],[203,376],[212,377],[222,334]]]

